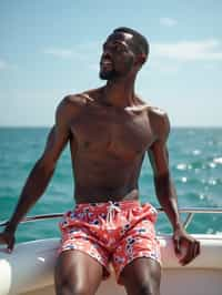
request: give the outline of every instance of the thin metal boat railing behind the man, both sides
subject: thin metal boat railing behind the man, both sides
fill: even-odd
[[[162,207],[159,207],[157,210],[160,213],[164,213]],[[191,223],[194,214],[221,214],[222,207],[210,207],[210,208],[209,207],[180,207],[179,212],[188,214],[185,220],[183,221],[183,226],[184,228],[186,228],[188,225]],[[63,216],[63,213],[40,214],[40,215],[27,216],[22,218],[20,223],[61,218],[62,216]],[[9,221],[0,222],[0,226],[6,226],[8,223]]]

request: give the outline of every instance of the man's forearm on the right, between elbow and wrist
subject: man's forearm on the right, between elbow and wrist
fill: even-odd
[[[154,179],[158,200],[168,215],[173,230],[182,227],[178,208],[178,196],[170,174]]]

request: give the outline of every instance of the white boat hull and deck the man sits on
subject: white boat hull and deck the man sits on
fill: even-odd
[[[222,212],[222,210],[221,210]],[[186,220],[186,223],[190,217]],[[1,225],[1,224],[0,224]],[[163,262],[161,295],[222,295],[222,235],[193,235],[201,255],[186,266],[175,257],[171,236],[160,235]],[[12,254],[0,250],[0,295],[52,295],[59,238],[17,244]],[[123,295],[114,274],[102,282],[97,295]]]

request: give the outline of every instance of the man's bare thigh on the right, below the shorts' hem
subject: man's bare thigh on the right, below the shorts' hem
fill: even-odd
[[[120,275],[128,295],[160,295],[160,264],[147,257],[135,258]]]

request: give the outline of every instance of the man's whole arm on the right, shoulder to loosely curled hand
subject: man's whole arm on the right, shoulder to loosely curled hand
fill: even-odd
[[[200,243],[186,234],[180,220],[178,197],[169,170],[167,140],[170,123],[168,115],[153,110],[150,119],[154,142],[148,152],[153,167],[155,193],[172,224],[175,253],[182,256],[180,262],[185,265],[200,254]]]

